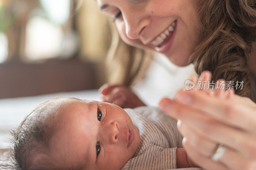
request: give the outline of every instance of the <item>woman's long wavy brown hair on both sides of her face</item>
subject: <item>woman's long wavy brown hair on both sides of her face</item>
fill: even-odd
[[[250,54],[252,43],[256,42],[256,1],[197,0],[196,7],[203,26],[203,40],[189,56],[188,64],[195,65],[198,75],[204,70],[210,70],[214,82],[219,78],[234,82],[244,81],[243,88],[235,92],[253,99],[247,65],[250,56],[246,58],[246,54]],[[145,74],[150,63],[147,60],[152,58],[148,56],[152,56],[152,52],[142,53],[138,49],[139,55],[134,60],[135,47],[128,47],[129,45],[117,37],[117,31],[113,27],[112,35],[114,36],[108,54],[109,83],[129,86],[138,79],[138,74]],[[141,64],[136,63],[138,61]],[[113,68],[113,62],[118,67]],[[132,69],[138,74],[134,74]]]

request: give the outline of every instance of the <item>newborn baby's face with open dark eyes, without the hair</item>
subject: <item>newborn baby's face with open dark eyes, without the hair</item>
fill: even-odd
[[[59,117],[51,150],[64,166],[120,169],[140,144],[131,118],[114,104],[72,100]]]

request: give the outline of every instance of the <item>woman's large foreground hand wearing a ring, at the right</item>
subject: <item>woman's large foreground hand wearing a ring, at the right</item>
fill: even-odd
[[[208,76],[205,76],[208,74]],[[200,79],[211,80],[204,71]],[[188,156],[208,169],[256,169],[256,104],[232,90],[180,90],[174,100],[163,98],[160,107],[179,119]],[[226,146],[219,161],[211,155],[218,144]]]

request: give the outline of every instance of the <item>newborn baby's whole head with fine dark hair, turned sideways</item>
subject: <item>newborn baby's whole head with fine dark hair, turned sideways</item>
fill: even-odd
[[[39,105],[13,135],[20,169],[120,169],[140,143],[121,107],[76,98]]]

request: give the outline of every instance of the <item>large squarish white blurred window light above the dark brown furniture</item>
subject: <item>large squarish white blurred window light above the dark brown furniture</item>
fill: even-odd
[[[63,38],[61,26],[45,18],[31,18],[26,27],[25,55],[29,60],[58,57],[61,53]]]

